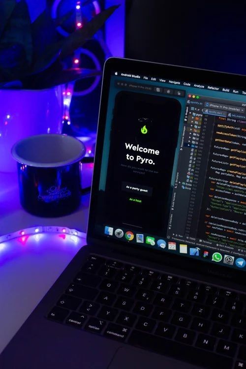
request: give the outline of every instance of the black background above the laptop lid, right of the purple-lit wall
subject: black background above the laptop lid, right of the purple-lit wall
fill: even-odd
[[[126,0],[125,57],[246,74],[244,1]]]

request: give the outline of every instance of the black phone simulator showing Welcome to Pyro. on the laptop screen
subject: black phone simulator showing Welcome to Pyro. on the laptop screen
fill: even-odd
[[[180,114],[175,98],[116,95],[105,188],[108,222],[151,233],[165,228]]]

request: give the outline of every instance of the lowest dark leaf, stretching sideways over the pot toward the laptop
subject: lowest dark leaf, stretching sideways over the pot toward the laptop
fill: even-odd
[[[82,78],[89,78],[101,75],[101,72],[93,69],[65,69],[51,68],[49,73],[45,75],[35,75],[32,78],[24,79],[23,88],[31,90],[44,90],[54,86],[63,85],[65,83],[77,81]]]

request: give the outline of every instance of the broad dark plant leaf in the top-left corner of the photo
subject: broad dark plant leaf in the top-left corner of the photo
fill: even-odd
[[[4,29],[0,44],[19,44],[25,49],[28,64],[32,61],[31,19],[25,0],[17,2]],[[28,65],[27,65],[28,67]]]

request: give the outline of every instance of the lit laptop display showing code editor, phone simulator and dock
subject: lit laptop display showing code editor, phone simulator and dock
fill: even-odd
[[[246,270],[246,92],[112,70],[94,231]]]

